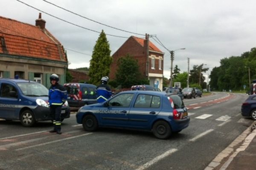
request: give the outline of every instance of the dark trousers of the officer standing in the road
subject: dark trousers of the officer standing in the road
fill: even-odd
[[[51,117],[55,131],[61,131],[61,106],[51,105],[50,106]]]

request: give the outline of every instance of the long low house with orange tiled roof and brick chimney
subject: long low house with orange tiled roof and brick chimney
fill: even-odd
[[[0,77],[40,82],[50,86],[50,74],[66,81],[67,56],[61,43],[45,28],[45,20],[35,26],[0,16]]]

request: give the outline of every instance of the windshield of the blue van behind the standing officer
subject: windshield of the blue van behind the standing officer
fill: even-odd
[[[26,96],[48,96],[48,89],[40,83],[20,82],[17,85]]]

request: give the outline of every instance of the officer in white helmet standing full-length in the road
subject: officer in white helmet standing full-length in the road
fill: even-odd
[[[52,74],[50,81],[52,85],[49,88],[49,105],[54,129],[49,132],[61,134],[61,106],[67,100],[67,91],[62,85],[58,84],[59,77],[57,74]]]

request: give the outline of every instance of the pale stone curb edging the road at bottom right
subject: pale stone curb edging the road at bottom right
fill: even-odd
[[[218,169],[218,170],[225,170],[228,165],[231,163],[231,161],[233,160],[233,158],[240,152],[240,151],[244,151],[248,145],[250,144],[250,142],[253,140],[253,138],[256,136],[256,130],[253,130],[251,132],[251,127],[253,127],[253,125],[256,122],[254,121],[250,127],[248,127],[246,130],[244,130],[243,133],[241,133],[241,135],[239,135],[228,147],[226,147],[224,150],[221,151],[221,153],[219,153],[215,159],[213,159],[209,165],[204,169],[204,170],[213,170],[216,167],[218,167],[221,162],[226,159],[227,161],[225,161],[223,163],[223,165]],[[240,144],[241,142],[243,142],[242,144]],[[216,168],[217,170],[217,168]]]

